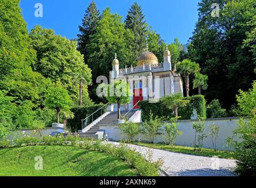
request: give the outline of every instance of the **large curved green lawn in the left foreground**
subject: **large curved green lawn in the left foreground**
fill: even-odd
[[[35,170],[35,157],[43,170]],[[136,176],[117,157],[72,146],[27,146],[0,150],[0,176]]]

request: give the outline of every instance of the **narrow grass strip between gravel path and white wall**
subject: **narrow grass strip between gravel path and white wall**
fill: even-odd
[[[187,147],[187,146],[171,147],[169,145],[164,145],[164,144],[155,144],[155,143],[152,144],[152,143],[141,143],[141,142],[135,142],[133,144],[139,145],[139,146],[151,147],[155,149],[167,150],[170,152],[185,153],[189,155],[199,155],[199,156],[206,156],[206,157],[218,156],[224,159],[234,159],[234,152],[227,152],[223,150],[218,150],[217,152],[215,152],[213,149],[202,148],[201,152],[198,152],[198,151],[194,151],[194,147]]]

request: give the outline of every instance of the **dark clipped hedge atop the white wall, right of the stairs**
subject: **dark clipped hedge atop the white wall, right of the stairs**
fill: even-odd
[[[178,116],[181,116],[181,119],[191,119],[193,109],[197,110],[198,115],[206,118],[206,102],[203,95],[189,96],[184,99],[189,100],[189,103],[183,108],[178,108]],[[158,116],[164,120],[169,120],[170,117],[173,117],[172,110],[168,109],[161,100],[157,103],[149,103],[144,100],[139,103],[139,108],[142,110],[143,121],[149,120],[150,112],[154,117]]]

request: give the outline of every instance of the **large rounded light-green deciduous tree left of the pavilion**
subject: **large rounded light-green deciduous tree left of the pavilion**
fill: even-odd
[[[91,70],[77,51],[77,42],[41,26],[35,26],[29,38],[36,51],[37,61],[32,65],[33,69],[54,83],[60,81],[71,99],[78,101],[79,83],[81,80],[87,84],[91,82]],[[87,92],[87,87],[84,87],[84,92]]]

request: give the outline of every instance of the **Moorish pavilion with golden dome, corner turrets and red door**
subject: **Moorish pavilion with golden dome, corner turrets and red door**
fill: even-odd
[[[138,109],[138,102],[142,100],[156,101],[164,96],[174,93],[183,93],[181,75],[176,67],[172,69],[171,53],[168,47],[164,51],[164,62],[158,63],[157,56],[147,48],[137,60],[137,66],[119,69],[117,55],[112,62],[111,79],[125,79],[133,91],[131,102],[121,106],[121,110]],[[112,105],[112,110],[117,111],[117,105]],[[112,111],[111,110],[111,111]]]

